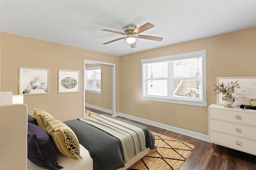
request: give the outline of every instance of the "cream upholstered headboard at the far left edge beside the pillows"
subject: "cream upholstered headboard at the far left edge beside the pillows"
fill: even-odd
[[[0,92],[0,170],[27,169],[28,107]]]

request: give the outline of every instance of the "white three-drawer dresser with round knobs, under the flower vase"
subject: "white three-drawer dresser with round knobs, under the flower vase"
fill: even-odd
[[[256,110],[209,106],[209,141],[256,155]]]

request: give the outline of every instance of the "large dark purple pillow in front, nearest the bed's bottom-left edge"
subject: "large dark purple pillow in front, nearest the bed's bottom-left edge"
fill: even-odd
[[[28,159],[49,170],[59,170],[56,147],[52,138],[41,127],[28,122]]]

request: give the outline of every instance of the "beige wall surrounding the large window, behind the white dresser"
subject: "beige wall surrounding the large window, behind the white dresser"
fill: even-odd
[[[171,37],[165,37],[171,38]],[[143,42],[146,43],[146,42]],[[140,42],[137,42],[137,46]],[[120,112],[208,135],[208,107],[141,99],[141,59],[206,49],[208,106],[217,77],[256,76],[256,28],[120,57]]]

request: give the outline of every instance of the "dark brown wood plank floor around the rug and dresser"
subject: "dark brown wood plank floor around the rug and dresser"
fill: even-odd
[[[109,114],[90,107],[86,110],[99,114]],[[110,115],[110,114],[109,114]],[[172,137],[196,146],[180,170],[256,170],[256,156],[217,145],[193,137],[154,127],[145,123],[117,116],[147,127],[150,131]]]

